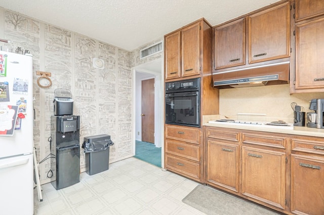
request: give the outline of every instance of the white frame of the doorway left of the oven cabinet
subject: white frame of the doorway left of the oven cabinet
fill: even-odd
[[[146,73],[147,77],[140,79],[140,82],[145,79],[154,78],[154,144],[156,147],[161,147],[161,165],[162,168],[164,168],[164,65],[163,65],[163,58],[156,59],[154,62],[160,63],[160,72],[156,71],[150,71],[145,68],[145,64],[138,65],[133,68],[133,152],[135,155],[135,143],[136,143],[136,137],[137,130],[136,130],[136,123],[137,121],[140,122],[140,125],[142,124],[142,120],[140,117],[141,110],[138,110],[139,108],[136,106],[137,101],[141,103],[141,93],[138,92],[137,88],[142,88],[141,84],[140,86],[137,86],[137,77],[140,77],[139,73]],[[147,64],[152,63],[148,62]],[[141,108],[141,107],[140,107]],[[162,113],[162,114],[161,114]],[[138,115],[138,116],[137,116]],[[141,132],[140,132],[141,133]]]

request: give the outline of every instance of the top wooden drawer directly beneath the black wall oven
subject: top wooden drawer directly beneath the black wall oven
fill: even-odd
[[[166,138],[199,144],[199,129],[167,125]]]

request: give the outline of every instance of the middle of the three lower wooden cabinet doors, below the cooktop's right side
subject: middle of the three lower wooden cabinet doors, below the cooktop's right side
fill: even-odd
[[[286,153],[242,147],[242,195],[285,207]]]

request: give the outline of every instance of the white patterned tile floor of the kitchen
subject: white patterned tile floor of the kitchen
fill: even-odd
[[[197,185],[131,157],[70,187],[42,185],[42,202],[34,189],[34,214],[204,214],[181,201]]]

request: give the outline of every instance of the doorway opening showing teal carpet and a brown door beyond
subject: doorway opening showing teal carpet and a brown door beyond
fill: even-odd
[[[138,152],[141,150],[141,148],[145,148],[145,154],[143,160],[145,157],[149,158],[149,155],[154,156],[154,153],[157,149],[160,151],[159,155],[159,162],[160,164],[164,163],[164,157],[162,156],[163,152],[163,146],[164,146],[164,123],[163,123],[163,110],[164,110],[164,89],[163,89],[163,64],[162,64],[162,58],[156,59],[154,61],[136,66],[134,68],[134,104],[135,104],[135,113],[134,113],[134,119],[135,119],[135,125],[134,125],[134,131],[135,131],[135,140],[134,140],[134,152]],[[146,92],[146,88],[144,86],[144,89],[142,89],[143,84],[150,82],[150,84],[153,84],[153,89],[150,89],[153,93],[153,101],[151,100],[148,103],[143,103],[142,96]],[[145,91],[144,93],[142,91]],[[147,102],[147,101],[146,101]],[[153,112],[152,114],[149,114],[145,111],[145,108],[148,108]],[[152,110],[153,109],[153,110]],[[145,112],[145,113],[144,113]],[[146,115],[149,116],[146,116]],[[149,119],[148,119],[149,118]],[[145,130],[145,120],[146,123],[149,121],[152,123],[150,126],[150,131]],[[144,124],[143,124],[144,123]],[[143,127],[142,128],[142,124]],[[149,132],[147,135],[146,132]],[[144,138],[144,139],[143,139]],[[147,147],[145,146],[145,143],[147,143]],[[144,144],[144,145],[143,145]],[[142,147],[139,147],[141,145]],[[135,156],[137,157],[137,156]],[[139,157],[137,157],[139,158]],[[140,158],[141,159],[141,158]],[[145,160],[146,162],[150,163],[149,160]],[[152,163],[153,164],[153,163]],[[153,164],[156,165],[156,164]],[[163,166],[163,165],[156,165],[156,166]]]

